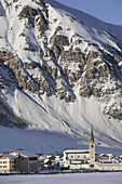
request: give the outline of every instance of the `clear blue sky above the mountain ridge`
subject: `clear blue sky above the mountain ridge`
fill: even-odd
[[[122,25],[122,0],[56,0],[104,22]]]

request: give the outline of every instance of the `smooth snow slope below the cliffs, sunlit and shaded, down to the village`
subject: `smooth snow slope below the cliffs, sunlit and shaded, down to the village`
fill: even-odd
[[[122,124],[116,123],[112,118],[107,121],[99,103],[93,97],[78,97],[70,104],[54,96],[33,97],[18,90],[13,96],[8,95],[8,103],[13,106],[15,114],[31,123],[26,130],[0,128],[1,153],[16,148],[37,153],[63,152],[67,147],[83,148],[83,145],[89,146],[91,126],[94,127],[96,145],[117,149],[122,147]],[[8,140],[11,140],[9,144]]]

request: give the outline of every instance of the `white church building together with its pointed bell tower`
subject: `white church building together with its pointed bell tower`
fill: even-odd
[[[95,142],[93,128],[91,128],[91,139],[89,149],[66,149],[64,152],[64,163],[69,169],[90,169],[95,163]]]

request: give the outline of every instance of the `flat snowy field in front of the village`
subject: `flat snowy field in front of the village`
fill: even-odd
[[[0,176],[0,184],[121,184],[122,173],[78,173],[60,175]]]

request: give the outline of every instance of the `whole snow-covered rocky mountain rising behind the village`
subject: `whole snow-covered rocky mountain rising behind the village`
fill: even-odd
[[[121,147],[121,26],[54,0],[1,0],[2,148],[9,136],[9,148],[80,147],[91,126],[96,144]]]

